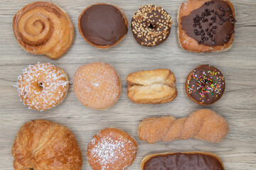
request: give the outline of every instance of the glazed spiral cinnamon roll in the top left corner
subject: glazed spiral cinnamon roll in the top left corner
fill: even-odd
[[[57,59],[72,45],[74,28],[68,13],[50,2],[21,8],[13,21],[15,38],[23,50]]]

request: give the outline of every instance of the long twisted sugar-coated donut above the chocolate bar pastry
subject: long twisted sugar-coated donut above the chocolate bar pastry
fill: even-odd
[[[221,142],[228,134],[228,122],[210,109],[191,113],[188,118],[172,116],[146,118],[139,123],[139,139],[148,143],[188,140],[195,138],[208,142]]]

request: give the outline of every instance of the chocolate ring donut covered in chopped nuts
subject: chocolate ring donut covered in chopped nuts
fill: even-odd
[[[169,37],[172,23],[171,16],[161,6],[147,4],[132,16],[132,33],[140,45],[153,47]]]

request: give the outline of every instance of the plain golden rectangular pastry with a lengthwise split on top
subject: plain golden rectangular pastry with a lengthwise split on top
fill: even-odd
[[[127,96],[134,103],[166,103],[178,92],[170,69],[134,72],[127,76]]]

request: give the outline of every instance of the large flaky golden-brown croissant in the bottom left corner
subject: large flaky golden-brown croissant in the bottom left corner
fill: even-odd
[[[48,120],[25,123],[11,148],[14,169],[82,169],[82,154],[75,135]]]

